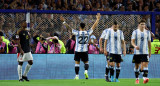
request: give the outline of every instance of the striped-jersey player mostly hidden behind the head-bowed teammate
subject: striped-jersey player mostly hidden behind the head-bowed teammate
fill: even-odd
[[[107,29],[105,29],[103,32],[102,32],[102,34],[101,34],[101,37],[100,37],[100,39],[99,39],[99,45],[100,45],[100,52],[101,53],[103,53],[103,48],[102,48],[102,40],[103,39],[105,39],[105,36],[106,36],[106,34],[107,34],[107,31],[108,30],[110,30],[111,28],[107,28]],[[108,73],[109,73],[109,42],[107,42],[107,52],[108,52],[108,54],[107,54],[107,56],[105,56],[106,57],[106,60],[107,60],[107,65],[106,65],[106,70],[105,70],[105,79],[106,79],[106,81],[107,82],[110,82],[110,80],[109,80],[109,78],[108,78]]]

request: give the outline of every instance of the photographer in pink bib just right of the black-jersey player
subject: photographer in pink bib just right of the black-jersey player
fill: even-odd
[[[37,43],[36,51],[37,54],[47,53],[48,44],[46,43],[46,39],[40,35],[36,35],[33,37],[33,40]]]

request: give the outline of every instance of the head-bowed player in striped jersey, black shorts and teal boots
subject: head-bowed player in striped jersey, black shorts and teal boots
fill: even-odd
[[[114,24],[112,26],[112,29],[107,31],[106,37],[105,37],[105,43],[104,43],[104,54],[107,56],[107,41],[109,40],[109,60],[110,60],[110,76],[111,76],[111,82],[114,82],[114,66],[116,63],[116,82],[119,82],[118,77],[120,74],[120,63],[121,63],[121,54],[122,54],[122,48],[123,48],[123,54],[126,55],[126,45],[124,41],[124,35],[121,30],[119,30],[119,25],[116,21],[114,21]],[[122,47],[121,47],[122,43]]]

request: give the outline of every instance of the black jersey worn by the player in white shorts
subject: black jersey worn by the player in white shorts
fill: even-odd
[[[29,32],[26,30],[21,30],[19,33],[19,39],[20,39],[20,45],[24,53],[30,52],[30,36]],[[18,53],[20,53],[20,50],[18,49]]]

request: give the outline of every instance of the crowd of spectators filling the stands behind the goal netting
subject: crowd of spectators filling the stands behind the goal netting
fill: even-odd
[[[160,11],[160,0],[0,0],[0,9],[27,9],[27,10],[72,10],[72,11]],[[20,22],[24,20],[25,14],[0,14],[0,31],[3,41],[6,46],[12,45],[13,35],[20,28]],[[61,42],[63,46],[59,53],[73,53],[75,37],[71,35],[71,31],[66,29],[60,21],[61,15],[58,14],[31,14],[30,33],[31,33],[31,47],[32,53],[36,53],[38,43],[46,42],[45,38],[54,37]],[[78,24],[83,21],[86,23],[86,28],[90,28],[95,19],[94,16],[89,15],[63,15],[66,17],[69,25],[78,28]],[[101,29],[96,29],[91,36],[89,48],[98,46],[98,40],[105,28],[111,26],[113,18],[117,18],[120,24],[120,29],[124,32],[126,40],[126,48],[128,54],[133,54],[133,47],[130,43],[131,33],[137,28],[137,21],[139,16],[125,15],[125,16],[102,16],[100,25]],[[146,29],[151,29],[151,16],[143,15],[141,18],[147,22]],[[110,21],[110,22],[109,22]],[[135,27],[136,26],[136,27]],[[156,35],[160,34],[160,16],[156,16]],[[103,29],[102,29],[103,28]],[[44,39],[43,39],[44,38]],[[43,40],[42,40],[43,39]],[[52,40],[52,39],[50,39]],[[58,42],[58,43],[59,43]],[[72,46],[70,46],[72,44]],[[16,46],[15,46],[16,47]],[[40,47],[40,46],[39,46]],[[44,46],[45,47],[45,46]],[[70,48],[71,47],[71,48]],[[50,47],[46,47],[50,49]],[[44,48],[44,50],[46,50]],[[6,47],[6,52],[13,46]],[[67,51],[66,51],[67,49]],[[99,49],[95,46],[95,50]],[[94,51],[94,49],[92,49]],[[69,51],[72,50],[72,51]],[[49,50],[46,50],[48,53]],[[1,52],[0,52],[1,53]],[[38,52],[40,53],[40,52]],[[43,52],[44,53],[44,52]],[[99,53],[99,52],[94,52]]]

